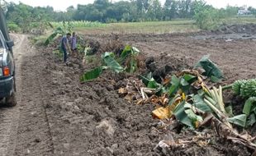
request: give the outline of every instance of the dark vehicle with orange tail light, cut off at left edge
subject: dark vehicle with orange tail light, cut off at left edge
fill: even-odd
[[[10,106],[17,104],[15,98],[15,64],[12,53],[14,43],[7,30],[4,12],[0,7],[0,100]]]

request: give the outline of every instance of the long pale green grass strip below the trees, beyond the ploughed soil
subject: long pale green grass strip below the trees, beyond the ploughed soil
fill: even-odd
[[[199,29],[194,21],[146,21],[129,23],[111,23],[104,27],[76,27],[74,30],[83,34],[165,34],[165,33],[185,33],[196,32]]]

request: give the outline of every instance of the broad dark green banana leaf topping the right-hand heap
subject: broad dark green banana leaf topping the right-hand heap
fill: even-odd
[[[216,66],[216,64],[214,62],[211,62],[211,60],[209,59],[210,55],[205,55],[203,57],[201,57],[201,60],[199,62],[197,62],[197,64],[195,65],[195,68],[197,67],[201,67],[205,70],[205,72],[203,72],[203,76],[207,76],[210,77],[212,76],[212,78],[214,77],[214,80],[217,79],[223,79],[224,75],[223,72],[220,71],[219,67]]]

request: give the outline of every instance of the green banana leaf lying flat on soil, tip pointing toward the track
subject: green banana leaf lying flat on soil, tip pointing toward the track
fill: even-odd
[[[106,67],[97,67],[92,69],[91,71],[87,71],[80,77],[81,82],[87,82],[89,80],[96,79],[97,77],[101,76],[103,69]]]

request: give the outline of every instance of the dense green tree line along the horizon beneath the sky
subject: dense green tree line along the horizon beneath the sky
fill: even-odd
[[[7,21],[21,28],[39,25],[38,21],[169,21],[177,18],[201,18],[201,16],[235,16],[239,7],[216,9],[203,0],[130,0],[111,2],[95,0],[92,4],[68,7],[66,11],[54,11],[53,7],[31,7],[24,3],[7,2]],[[255,10],[251,7],[252,10]],[[204,14],[199,14],[199,12]],[[197,20],[197,19],[196,19]]]

